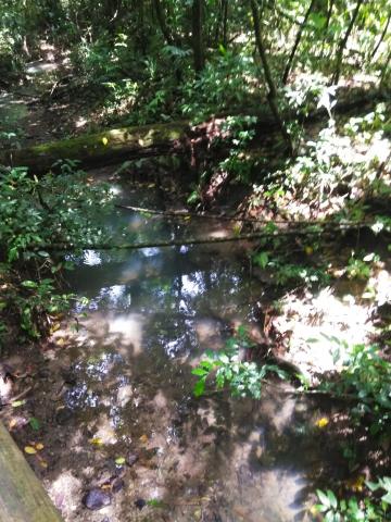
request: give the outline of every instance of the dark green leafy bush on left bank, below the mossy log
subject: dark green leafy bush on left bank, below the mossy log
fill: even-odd
[[[0,312],[4,320],[17,318],[33,338],[47,333],[72,299],[60,289],[72,262],[52,245],[87,247],[102,239],[99,215],[110,209],[106,186],[89,185],[73,162],[58,166],[60,174],[40,179],[25,169],[3,170],[0,177]]]

